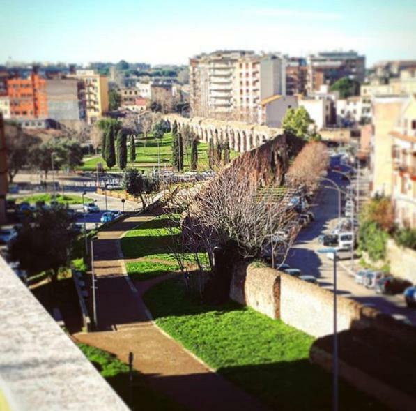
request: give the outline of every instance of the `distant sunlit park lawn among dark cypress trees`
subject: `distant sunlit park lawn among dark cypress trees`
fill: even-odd
[[[160,165],[167,168],[171,167],[171,144],[172,144],[172,135],[171,133],[166,133],[159,144],[159,149],[157,148],[157,139],[153,135],[149,135],[147,139],[141,136],[139,139],[136,139],[136,161],[134,167],[139,168],[140,170],[153,170],[153,167],[157,167],[158,153],[160,155]],[[184,149],[183,163],[184,169],[190,169],[190,156],[191,149]],[[234,158],[238,156],[236,151],[230,151],[230,157]],[[107,170],[104,160],[101,157],[95,158],[86,158],[84,160],[84,165],[79,167],[80,170],[95,170],[98,163],[102,163],[103,167]],[[132,167],[132,164],[129,163],[128,167]],[[208,144],[204,142],[198,142],[198,167],[201,170],[208,169]],[[114,169],[113,169],[114,170]]]

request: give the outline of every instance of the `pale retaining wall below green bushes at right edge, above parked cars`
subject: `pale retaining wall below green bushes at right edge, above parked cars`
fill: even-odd
[[[416,283],[416,251],[400,247],[390,239],[387,241],[387,260],[394,276]]]

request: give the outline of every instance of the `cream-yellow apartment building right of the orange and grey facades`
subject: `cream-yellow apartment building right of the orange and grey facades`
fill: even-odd
[[[91,124],[108,111],[108,82],[107,77],[94,70],[77,70],[68,78],[80,80],[79,100],[85,107],[86,120]]]

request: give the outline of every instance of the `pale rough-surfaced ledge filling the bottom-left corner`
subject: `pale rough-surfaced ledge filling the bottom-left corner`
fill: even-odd
[[[128,411],[2,257],[0,408]]]

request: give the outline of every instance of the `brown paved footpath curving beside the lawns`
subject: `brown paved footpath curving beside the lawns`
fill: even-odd
[[[125,276],[119,237],[151,218],[154,216],[130,217],[98,234],[94,267],[98,326],[103,331],[75,334],[75,338],[112,352],[124,362],[133,352],[133,366],[145,375],[148,384],[189,410],[266,411],[263,404],[210,370],[149,320],[141,296],[164,278],[133,285]]]

